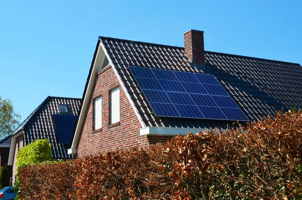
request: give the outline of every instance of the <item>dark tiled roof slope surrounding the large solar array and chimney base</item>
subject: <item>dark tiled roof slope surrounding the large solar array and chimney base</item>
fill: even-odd
[[[228,121],[155,117],[134,81],[129,65],[216,77],[250,120],[276,110],[302,108],[302,67],[296,63],[205,51],[206,65],[196,69],[183,47],[99,37],[146,126],[215,127]]]

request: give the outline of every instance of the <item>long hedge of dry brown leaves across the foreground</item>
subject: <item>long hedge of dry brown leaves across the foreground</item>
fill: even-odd
[[[301,199],[302,112],[20,170],[21,199]]]

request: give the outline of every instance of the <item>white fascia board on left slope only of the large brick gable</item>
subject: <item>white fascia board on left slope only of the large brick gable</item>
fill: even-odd
[[[71,144],[71,149],[75,149],[75,150],[73,150],[73,151],[68,150],[67,151],[68,154],[69,154],[69,152],[72,153],[72,154],[77,153],[77,144],[78,144],[78,140],[79,140],[79,137],[80,137],[80,134],[81,134],[81,129],[82,129],[83,121],[84,121],[85,114],[86,114],[86,111],[87,111],[88,103],[89,103],[89,100],[90,100],[91,91],[92,91],[92,88],[93,88],[93,85],[94,85],[94,82],[95,82],[95,79],[96,79],[95,75],[98,73],[99,65],[101,64],[100,62],[102,61],[102,58],[103,58],[103,55],[104,55],[104,50],[103,50],[103,48],[100,48],[100,47],[101,47],[101,42],[100,42],[99,47],[98,47],[98,52],[97,52],[97,55],[96,55],[95,62],[93,63],[93,69],[92,69],[90,79],[89,79],[89,82],[88,82],[88,87],[87,87],[86,94],[85,94],[85,97],[84,97],[82,109],[80,111],[79,121],[78,121],[77,126],[75,127],[75,134],[74,134],[72,144]],[[75,153],[73,153],[73,152],[75,152]]]

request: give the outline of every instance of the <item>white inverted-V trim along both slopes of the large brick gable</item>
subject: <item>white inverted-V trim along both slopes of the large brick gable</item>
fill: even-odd
[[[77,153],[77,144],[78,144],[78,140],[79,140],[79,137],[80,137],[80,134],[81,134],[81,129],[82,129],[82,125],[83,125],[83,121],[84,121],[84,118],[85,118],[85,114],[86,114],[86,111],[87,111],[87,107],[88,107],[88,103],[89,103],[89,100],[90,100],[90,96],[91,96],[91,91],[92,91],[92,88],[93,88],[93,85],[94,85],[94,82],[95,82],[95,75],[99,72],[99,66],[100,64],[102,64],[101,62],[104,61],[104,54],[107,56],[110,64],[111,64],[111,67],[120,83],[120,85],[122,86],[140,124],[142,127],[145,127],[145,125],[143,124],[136,108],[135,108],[135,105],[134,103],[131,101],[131,98],[125,88],[125,86],[123,85],[123,82],[121,81],[120,77],[118,76],[118,73],[113,65],[113,62],[112,60],[110,59],[108,53],[106,52],[106,48],[105,46],[103,45],[103,43],[100,41],[100,44],[99,44],[99,47],[98,47],[98,51],[97,51],[97,55],[96,55],[96,59],[95,59],[95,62],[93,63],[93,68],[92,68],[92,72],[91,72],[91,75],[90,75],[90,79],[89,79],[89,83],[88,83],[88,87],[87,87],[87,91],[86,91],[86,94],[85,94],[85,97],[84,97],[84,101],[83,101],[83,105],[82,105],[82,109],[80,111],[80,116],[79,116],[79,121],[77,123],[77,126],[75,127],[75,134],[74,134],[74,137],[73,137],[73,140],[72,140],[72,144],[71,144],[71,148],[67,150],[67,153],[69,155],[74,155]]]

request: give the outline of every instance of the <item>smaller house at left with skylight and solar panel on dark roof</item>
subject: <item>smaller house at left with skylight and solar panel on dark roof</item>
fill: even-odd
[[[67,154],[73,126],[80,109],[81,99],[48,96],[14,131],[9,155],[16,175],[18,150],[36,139],[49,139],[53,160],[74,158]]]

